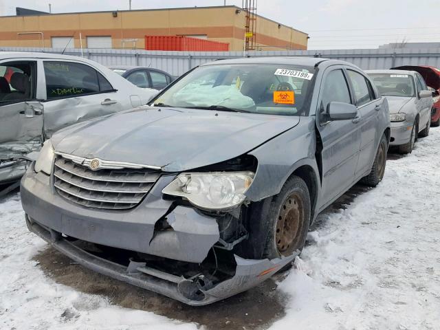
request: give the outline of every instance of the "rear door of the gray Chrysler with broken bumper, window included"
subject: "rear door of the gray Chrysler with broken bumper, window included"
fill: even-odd
[[[375,97],[370,80],[361,72],[347,68],[347,74],[353,90],[355,105],[358,107],[361,130],[360,155],[356,166],[355,177],[361,177],[373,166],[378,142],[380,98]]]

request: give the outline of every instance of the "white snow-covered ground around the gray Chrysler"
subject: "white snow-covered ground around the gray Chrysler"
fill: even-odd
[[[286,315],[268,327],[440,329],[440,129],[416,146],[377,188],[318,217],[278,284]],[[47,245],[23,217],[18,194],[0,200],[0,329],[197,329],[48,278],[32,261]]]

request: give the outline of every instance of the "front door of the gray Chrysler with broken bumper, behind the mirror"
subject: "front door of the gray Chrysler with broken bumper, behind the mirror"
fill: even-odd
[[[342,66],[329,67],[322,78],[316,126],[322,140],[322,206],[336,199],[354,181],[358,164],[360,117],[354,120],[329,120],[330,102],[354,103],[349,80]]]

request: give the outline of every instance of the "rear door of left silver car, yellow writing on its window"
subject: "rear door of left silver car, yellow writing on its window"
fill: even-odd
[[[117,91],[94,67],[74,61],[43,61],[45,137],[66,126],[126,109]],[[123,95],[129,102],[129,96]]]

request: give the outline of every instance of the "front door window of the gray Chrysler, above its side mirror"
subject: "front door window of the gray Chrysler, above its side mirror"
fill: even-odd
[[[327,112],[330,102],[351,103],[349,85],[342,69],[329,72],[322,87],[321,112]]]

